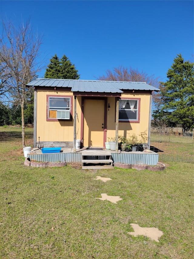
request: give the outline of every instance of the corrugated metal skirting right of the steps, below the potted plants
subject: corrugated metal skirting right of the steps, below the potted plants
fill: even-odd
[[[159,155],[157,153],[112,153],[114,163],[132,165],[157,165]]]

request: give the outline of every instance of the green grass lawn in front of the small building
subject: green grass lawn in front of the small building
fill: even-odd
[[[192,163],[158,172],[25,167],[20,132],[0,127],[0,258],[193,258]],[[123,200],[95,199],[101,193]],[[130,223],[164,234],[159,243],[133,237]]]

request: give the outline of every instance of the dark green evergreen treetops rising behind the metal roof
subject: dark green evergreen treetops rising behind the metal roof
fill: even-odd
[[[75,65],[71,63],[68,57],[63,55],[59,60],[55,54],[46,69],[45,78],[79,79],[77,72],[78,70],[75,69]]]

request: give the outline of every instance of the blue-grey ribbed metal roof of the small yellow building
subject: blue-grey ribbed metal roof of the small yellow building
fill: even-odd
[[[122,82],[101,80],[73,80],[73,79],[48,79],[37,78],[27,86],[38,87],[70,87],[72,92],[99,92],[99,93],[122,93],[122,90],[151,90],[159,91],[146,82]]]

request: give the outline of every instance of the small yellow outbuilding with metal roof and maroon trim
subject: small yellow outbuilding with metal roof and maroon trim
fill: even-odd
[[[105,147],[122,135],[146,132],[150,138],[152,92],[145,82],[35,79],[34,147]]]

